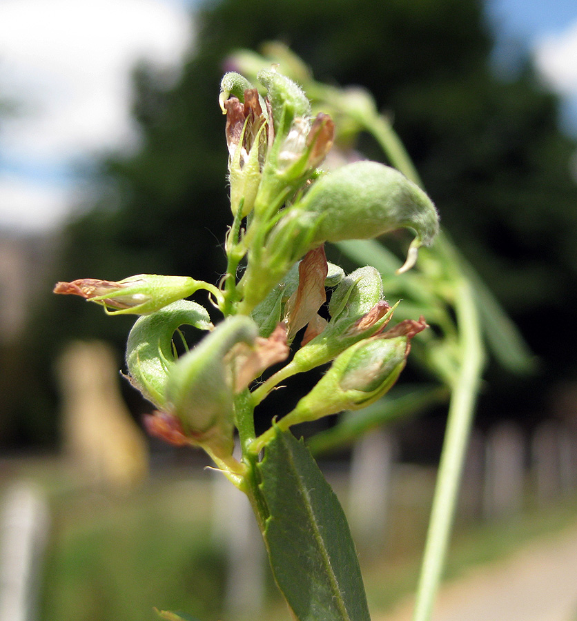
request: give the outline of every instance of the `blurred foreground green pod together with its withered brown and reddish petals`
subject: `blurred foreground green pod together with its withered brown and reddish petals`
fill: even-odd
[[[172,444],[201,446],[217,464],[235,470],[235,394],[289,355],[282,325],[268,339],[257,333],[250,317],[228,317],[176,362],[169,360],[164,391],[159,391],[162,408],[146,419],[148,431]],[[158,366],[155,371],[160,375]]]

